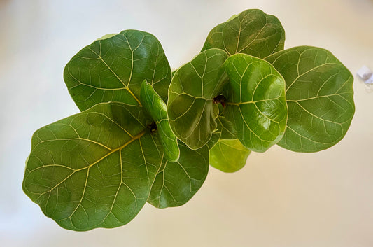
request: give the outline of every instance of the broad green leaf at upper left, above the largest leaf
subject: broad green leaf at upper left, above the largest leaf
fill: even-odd
[[[64,80],[80,111],[108,101],[136,106],[143,80],[167,101],[171,69],[155,36],[126,30],[80,50],[66,64]]]

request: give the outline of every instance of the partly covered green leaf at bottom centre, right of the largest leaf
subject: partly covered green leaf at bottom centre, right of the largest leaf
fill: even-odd
[[[148,198],[150,204],[160,209],[181,206],[188,202],[201,188],[209,171],[207,146],[197,150],[190,150],[183,143],[179,146],[179,160],[163,160]]]

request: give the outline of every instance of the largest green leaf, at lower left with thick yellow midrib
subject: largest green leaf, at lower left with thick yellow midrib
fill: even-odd
[[[139,106],[97,104],[38,129],[22,188],[70,230],[118,227],[146,203],[162,147]]]

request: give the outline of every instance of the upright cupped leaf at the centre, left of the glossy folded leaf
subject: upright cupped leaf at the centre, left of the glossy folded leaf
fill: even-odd
[[[167,113],[178,139],[195,150],[204,146],[216,129],[219,109],[213,98],[227,81],[225,51],[206,50],[179,68],[169,86]]]

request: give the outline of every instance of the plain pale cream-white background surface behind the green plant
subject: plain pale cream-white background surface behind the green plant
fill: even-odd
[[[216,24],[247,8],[276,15],[286,48],[330,50],[351,73],[373,67],[372,0],[0,0],[1,246],[373,246],[373,95],[355,83],[345,138],[320,153],[253,153],[235,174],[211,168],[185,206],[147,205],[113,230],[72,232],[22,192],[33,132],[73,113],[64,65],[96,38],[124,29],[160,40],[176,68]]]

